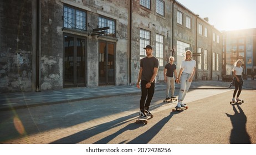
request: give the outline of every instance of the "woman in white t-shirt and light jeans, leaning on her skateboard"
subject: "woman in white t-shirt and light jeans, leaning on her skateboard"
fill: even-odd
[[[190,50],[186,51],[185,60],[181,63],[181,70],[178,74],[178,83],[181,84],[181,89],[178,94],[178,104],[177,107],[185,107],[182,104],[188,89],[190,89],[191,82],[193,80],[194,74],[196,73],[196,61],[192,59],[192,52]]]

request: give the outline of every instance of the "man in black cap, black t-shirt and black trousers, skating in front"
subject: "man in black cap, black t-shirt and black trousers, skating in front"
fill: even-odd
[[[152,113],[149,111],[149,106],[155,92],[155,79],[159,66],[158,59],[152,55],[152,46],[147,45],[144,49],[146,50],[147,56],[145,58],[142,58],[140,61],[140,73],[137,81],[138,88],[140,88],[141,81],[141,99],[139,114],[141,118],[147,118],[147,116],[152,115]]]

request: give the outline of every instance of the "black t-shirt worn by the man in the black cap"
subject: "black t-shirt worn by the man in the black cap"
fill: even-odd
[[[140,67],[143,69],[141,80],[150,81],[154,72],[154,68],[158,68],[158,66],[159,66],[159,62],[155,56],[151,58],[148,58],[148,57],[142,58],[140,61]],[[151,82],[155,82],[155,80]]]

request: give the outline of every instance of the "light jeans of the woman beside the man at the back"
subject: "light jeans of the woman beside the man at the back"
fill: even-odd
[[[183,101],[187,94],[188,89],[190,89],[190,85],[191,85],[191,82],[189,82],[190,76],[191,74],[188,74],[185,72],[181,74],[181,80],[180,80],[181,89],[180,89],[180,92],[178,93],[178,101]]]

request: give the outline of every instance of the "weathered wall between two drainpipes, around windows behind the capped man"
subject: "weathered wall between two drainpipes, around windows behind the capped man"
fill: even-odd
[[[151,9],[140,6],[140,1],[132,2],[132,55],[131,55],[131,84],[137,83],[137,77],[140,70],[140,29],[150,31],[150,44],[155,52],[156,34],[164,36],[164,65],[160,66],[156,81],[163,81],[163,69],[168,63],[171,55],[171,22],[172,22],[172,2],[165,1],[165,16],[156,13],[156,2],[151,1]]]

